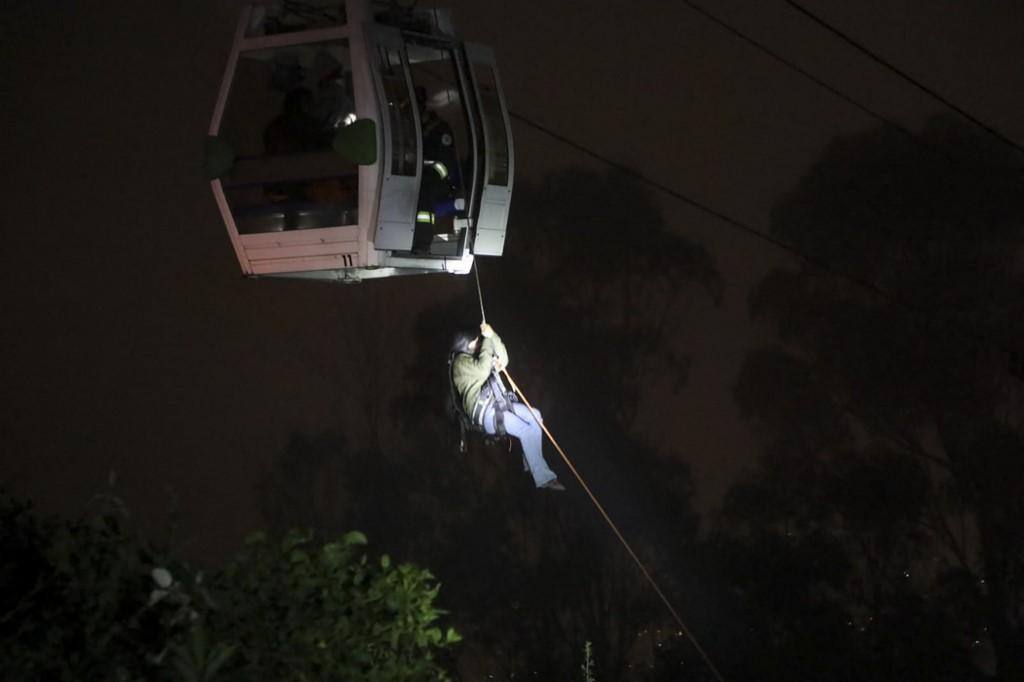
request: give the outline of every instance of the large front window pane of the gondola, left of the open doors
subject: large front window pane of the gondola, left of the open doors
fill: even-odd
[[[347,41],[239,55],[221,135],[239,154],[222,183],[240,232],[357,221],[358,169],[331,146],[351,83]]]

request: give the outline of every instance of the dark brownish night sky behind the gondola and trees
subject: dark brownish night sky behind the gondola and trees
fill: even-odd
[[[700,4],[912,129],[942,111],[780,0]],[[200,167],[239,3],[5,5],[0,483],[70,513],[115,469],[151,520],[176,492],[196,551],[220,556],[259,523],[253,486],[289,433],[365,437],[358,366],[391,348],[408,357],[417,310],[468,283],[240,276]],[[807,5],[1024,143],[1024,4]],[[761,228],[830,138],[876,124],[682,2],[445,6],[496,48],[515,112]],[[520,179],[597,168],[532,129],[515,134]],[[664,208],[712,252],[726,300],[685,307],[690,384],[671,402],[651,396],[641,419],[687,458],[707,511],[757,455],[731,390],[765,339],[749,288],[787,257],[674,200]]]

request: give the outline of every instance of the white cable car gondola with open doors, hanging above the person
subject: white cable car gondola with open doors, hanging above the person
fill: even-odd
[[[493,50],[445,10],[246,6],[206,153],[247,275],[465,274],[504,248],[508,110]]]

